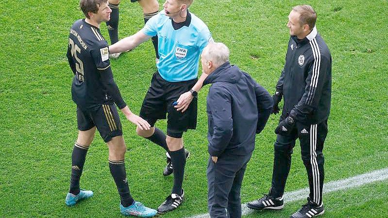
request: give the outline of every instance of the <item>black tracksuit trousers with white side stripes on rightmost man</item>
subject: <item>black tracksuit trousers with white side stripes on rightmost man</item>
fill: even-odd
[[[321,205],[324,179],[323,143],[327,135],[327,120],[319,124],[295,123],[290,135],[277,134],[274,144],[274,161],[272,172],[271,195],[280,197],[284,194],[287,176],[291,167],[291,154],[295,140],[299,138],[304,166],[307,170],[310,187],[310,201]]]

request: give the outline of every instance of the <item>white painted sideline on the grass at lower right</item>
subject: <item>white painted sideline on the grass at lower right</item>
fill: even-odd
[[[379,170],[371,171],[369,173],[364,173],[354,177],[350,177],[348,179],[324,183],[323,194],[330,193],[333,191],[338,191],[338,190],[354,188],[364,184],[370,184],[373,182],[387,180],[387,179],[388,179],[388,168],[379,169]],[[308,188],[287,192],[284,194],[284,201],[286,203],[286,202],[306,199],[309,192],[310,191]],[[261,196],[257,196],[257,197],[261,197]],[[242,212],[242,215],[244,216],[252,213],[253,210],[249,209],[247,207],[247,204],[244,203],[241,205],[241,212]],[[194,215],[189,218],[210,218],[210,215],[207,213],[207,214]]]

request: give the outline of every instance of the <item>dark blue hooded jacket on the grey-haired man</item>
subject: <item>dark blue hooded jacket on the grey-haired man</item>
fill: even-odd
[[[268,91],[229,62],[212,72],[203,84],[212,84],[206,100],[209,154],[252,153],[255,134],[263,130],[272,110]]]

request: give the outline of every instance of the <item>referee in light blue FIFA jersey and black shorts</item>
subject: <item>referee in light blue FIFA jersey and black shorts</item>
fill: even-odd
[[[158,36],[158,70],[152,76],[140,110],[140,117],[150,123],[151,129],[137,128],[136,133],[161,146],[169,155],[163,174],[173,171],[174,184],[171,194],[158,207],[159,213],[175,210],[185,201],[182,183],[189,153],[185,152],[182,136],[197,125],[197,92],[207,77],[202,73],[197,79],[198,61],[203,48],[213,41],[206,24],[188,11],[192,2],[166,0],[164,10],[153,16],[142,30],[109,47],[110,53],[132,50],[152,36]],[[166,117],[167,135],[154,126],[158,119]]]

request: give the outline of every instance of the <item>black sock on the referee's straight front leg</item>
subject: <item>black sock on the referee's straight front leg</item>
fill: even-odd
[[[174,166],[174,186],[171,193],[182,195],[183,175],[185,173],[186,156],[185,148],[170,151],[172,166]]]

